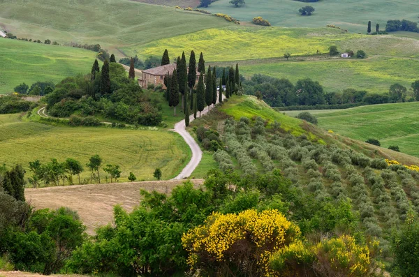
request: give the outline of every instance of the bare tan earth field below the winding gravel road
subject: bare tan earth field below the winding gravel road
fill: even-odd
[[[140,203],[140,190],[170,193],[184,180],[145,181],[135,183],[91,184],[81,186],[55,186],[48,188],[27,188],[27,202],[36,209],[58,209],[68,207],[78,211],[87,227],[88,234],[94,234],[96,227],[112,222],[113,207],[121,205],[126,211]],[[203,179],[192,179],[200,186]]]

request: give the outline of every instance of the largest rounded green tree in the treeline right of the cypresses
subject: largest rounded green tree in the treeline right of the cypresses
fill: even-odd
[[[299,105],[321,105],[325,103],[323,87],[318,82],[306,78],[295,84]]]

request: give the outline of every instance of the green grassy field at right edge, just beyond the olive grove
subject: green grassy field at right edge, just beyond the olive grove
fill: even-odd
[[[419,103],[395,103],[316,112],[318,126],[365,141],[376,138],[382,147],[398,145],[405,154],[419,157]]]

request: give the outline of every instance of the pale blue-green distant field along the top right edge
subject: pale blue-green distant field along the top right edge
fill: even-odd
[[[419,3],[416,0],[328,0],[316,3],[302,3],[294,0],[252,0],[241,8],[234,8],[230,0],[219,0],[206,10],[211,13],[226,13],[238,20],[250,22],[253,17],[262,16],[274,26],[282,27],[324,27],[333,24],[356,33],[367,32],[367,22],[378,23],[381,29],[387,20],[418,20]],[[313,6],[311,16],[301,16],[298,9]]]

